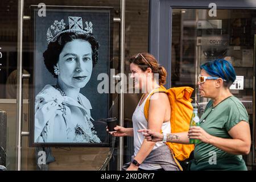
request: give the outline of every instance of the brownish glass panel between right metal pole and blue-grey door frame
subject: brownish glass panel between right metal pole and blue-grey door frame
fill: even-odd
[[[129,58],[138,52],[148,52],[148,0],[126,0],[125,13],[125,74],[130,73]],[[131,84],[130,84],[131,85]],[[127,83],[127,90],[129,90]],[[141,98],[141,94],[124,94],[125,127],[133,127],[133,112]],[[131,161],[134,155],[133,137],[125,137],[123,163]]]

